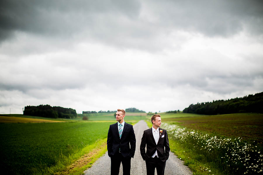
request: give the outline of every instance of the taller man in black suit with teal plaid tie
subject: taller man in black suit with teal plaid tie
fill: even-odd
[[[110,157],[110,174],[118,175],[122,162],[123,175],[130,175],[131,157],[135,153],[136,139],[133,126],[124,122],[125,111],[118,109],[115,124],[110,125],[107,139],[108,155]],[[130,147],[131,145],[131,147]]]

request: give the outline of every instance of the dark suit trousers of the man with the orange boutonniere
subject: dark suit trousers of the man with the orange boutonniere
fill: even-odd
[[[154,175],[155,168],[157,175],[164,175],[166,160],[163,162],[159,157],[150,157],[145,160],[147,175]]]

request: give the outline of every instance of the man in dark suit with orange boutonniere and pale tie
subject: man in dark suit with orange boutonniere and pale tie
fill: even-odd
[[[146,162],[147,175],[154,175],[155,168],[158,175],[164,175],[165,164],[170,151],[168,135],[165,129],[160,128],[161,115],[153,115],[151,121],[153,127],[146,129],[141,138],[141,156]]]

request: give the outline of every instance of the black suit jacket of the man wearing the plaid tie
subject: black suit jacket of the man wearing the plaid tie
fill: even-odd
[[[107,139],[108,155],[109,157],[116,155],[117,153],[119,153],[120,150],[123,157],[127,157],[127,156],[133,157],[136,147],[136,139],[135,139],[133,126],[125,122],[122,131],[122,137],[120,139],[119,128],[117,123],[110,125],[108,131],[108,139]]]

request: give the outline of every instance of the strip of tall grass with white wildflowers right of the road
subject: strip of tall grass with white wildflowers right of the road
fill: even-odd
[[[164,123],[162,127],[167,129],[170,138],[199,155],[199,160],[212,163],[224,174],[262,173],[262,146],[243,141],[242,138],[222,138],[175,124]],[[204,167],[203,171],[213,174],[209,167]]]

